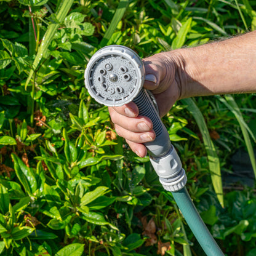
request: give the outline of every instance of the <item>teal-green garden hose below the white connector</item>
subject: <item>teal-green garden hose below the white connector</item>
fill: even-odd
[[[177,192],[172,192],[174,200],[177,203],[177,206],[180,208],[183,217],[190,226],[191,231],[198,240],[202,249],[207,256],[224,256],[220,247],[218,247],[217,242],[214,240],[210,234],[207,226],[202,221],[202,218],[198,214],[196,207],[191,201],[190,195],[186,188],[182,188]]]

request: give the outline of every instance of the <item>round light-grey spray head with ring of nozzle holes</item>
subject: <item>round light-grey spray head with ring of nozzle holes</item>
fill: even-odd
[[[89,94],[106,106],[132,102],[142,89],[145,69],[140,57],[125,46],[106,46],[90,58],[84,74]]]

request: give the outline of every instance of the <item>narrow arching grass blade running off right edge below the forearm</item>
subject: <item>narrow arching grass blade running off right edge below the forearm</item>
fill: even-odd
[[[254,170],[254,176],[256,178],[256,160],[254,156],[254,149],[252,148],[252,143],[250,142],[250,137],[249,137],[249,134],[250,134],[255,141],[254,134],[252,133],[252,131],[244,121],[244,118],[242,117],[242,113],[239,110],[238,105],[236,104],[236,102],[234,101],[234,98],[231,95],[229,94],[225,95],[225,98],[222,98],[219,95],[217,95],[217,98],[218,100],[220,100],[220,102],[224,103],[230,109],[230,111],[234,114],[234,116],[239,122],[239,126],[241,127],[242,135],[244,137],[244,142],[246,143],[250,162],[252,164],[252,169]]]

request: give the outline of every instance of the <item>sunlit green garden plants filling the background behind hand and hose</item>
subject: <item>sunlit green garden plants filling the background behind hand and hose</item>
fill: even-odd
[[[255,30],[255,7],[1,0],[0,255],[204,255],[148,158],[87,94],[84,69],[108,44],[146,57]],[[256,254],[255,106],[252,94],[190,98],[163,119],[226,255]]]

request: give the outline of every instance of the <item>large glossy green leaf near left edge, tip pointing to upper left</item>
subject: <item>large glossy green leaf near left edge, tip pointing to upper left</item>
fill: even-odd
[[[12,153],[12,160],[14,161],[15,173],[22,183],[26,193],[30,196],[34,196],[34,192],[37,189],[36,178],[32,169],[27,167],[16,154]]]

